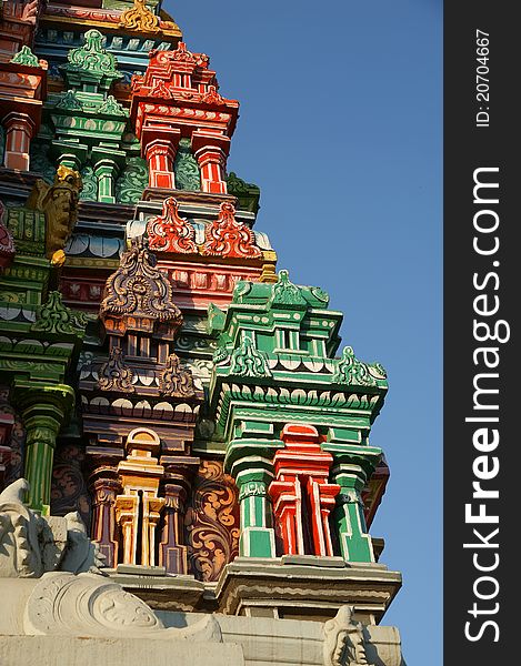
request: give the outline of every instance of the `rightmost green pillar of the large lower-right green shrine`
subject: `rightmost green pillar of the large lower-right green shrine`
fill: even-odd
[[[334,511],[340,552],[347,562],[374,562],[372,541],[363,514],[362,490],[377,467],[382,451],[374,446],[348,443],[358,436],[354,431],[351,434],[345,431],[343,436],[338,428],[331,431],[335,440],[322,444],[322,448],[333,455],[331,475],[340,486]]]

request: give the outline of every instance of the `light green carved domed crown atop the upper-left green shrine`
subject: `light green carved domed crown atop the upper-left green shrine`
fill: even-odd
[[[123,75],[118,72],[118,62],[103,49],[103,36],[99,30],[88,30],[84,40],[82,47],[69,51],[69,62],[60,69],[72,88],[84,92],[108,91],[112,82]]]

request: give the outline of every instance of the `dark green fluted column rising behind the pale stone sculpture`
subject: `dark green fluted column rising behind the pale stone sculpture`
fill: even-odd
[[[29,482],[27,503],[49,514],[52,462],[58,433],[74,404],[70,386],[14,385],[13,403],[26,428],[24,476]]]

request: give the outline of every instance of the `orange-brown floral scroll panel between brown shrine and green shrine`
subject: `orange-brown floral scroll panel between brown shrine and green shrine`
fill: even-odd
[[[201,461],[184,518],[191,573],[217,581],[239,554],[239,504],[233,480],[219,461]]]

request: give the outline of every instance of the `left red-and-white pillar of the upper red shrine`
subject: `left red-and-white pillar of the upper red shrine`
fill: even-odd
[[[142,153],[149,163],[149,186],[167,190],[176,189],[173,163],[178,151],[181,131],[152,131],[146,128],[142,133]]]

